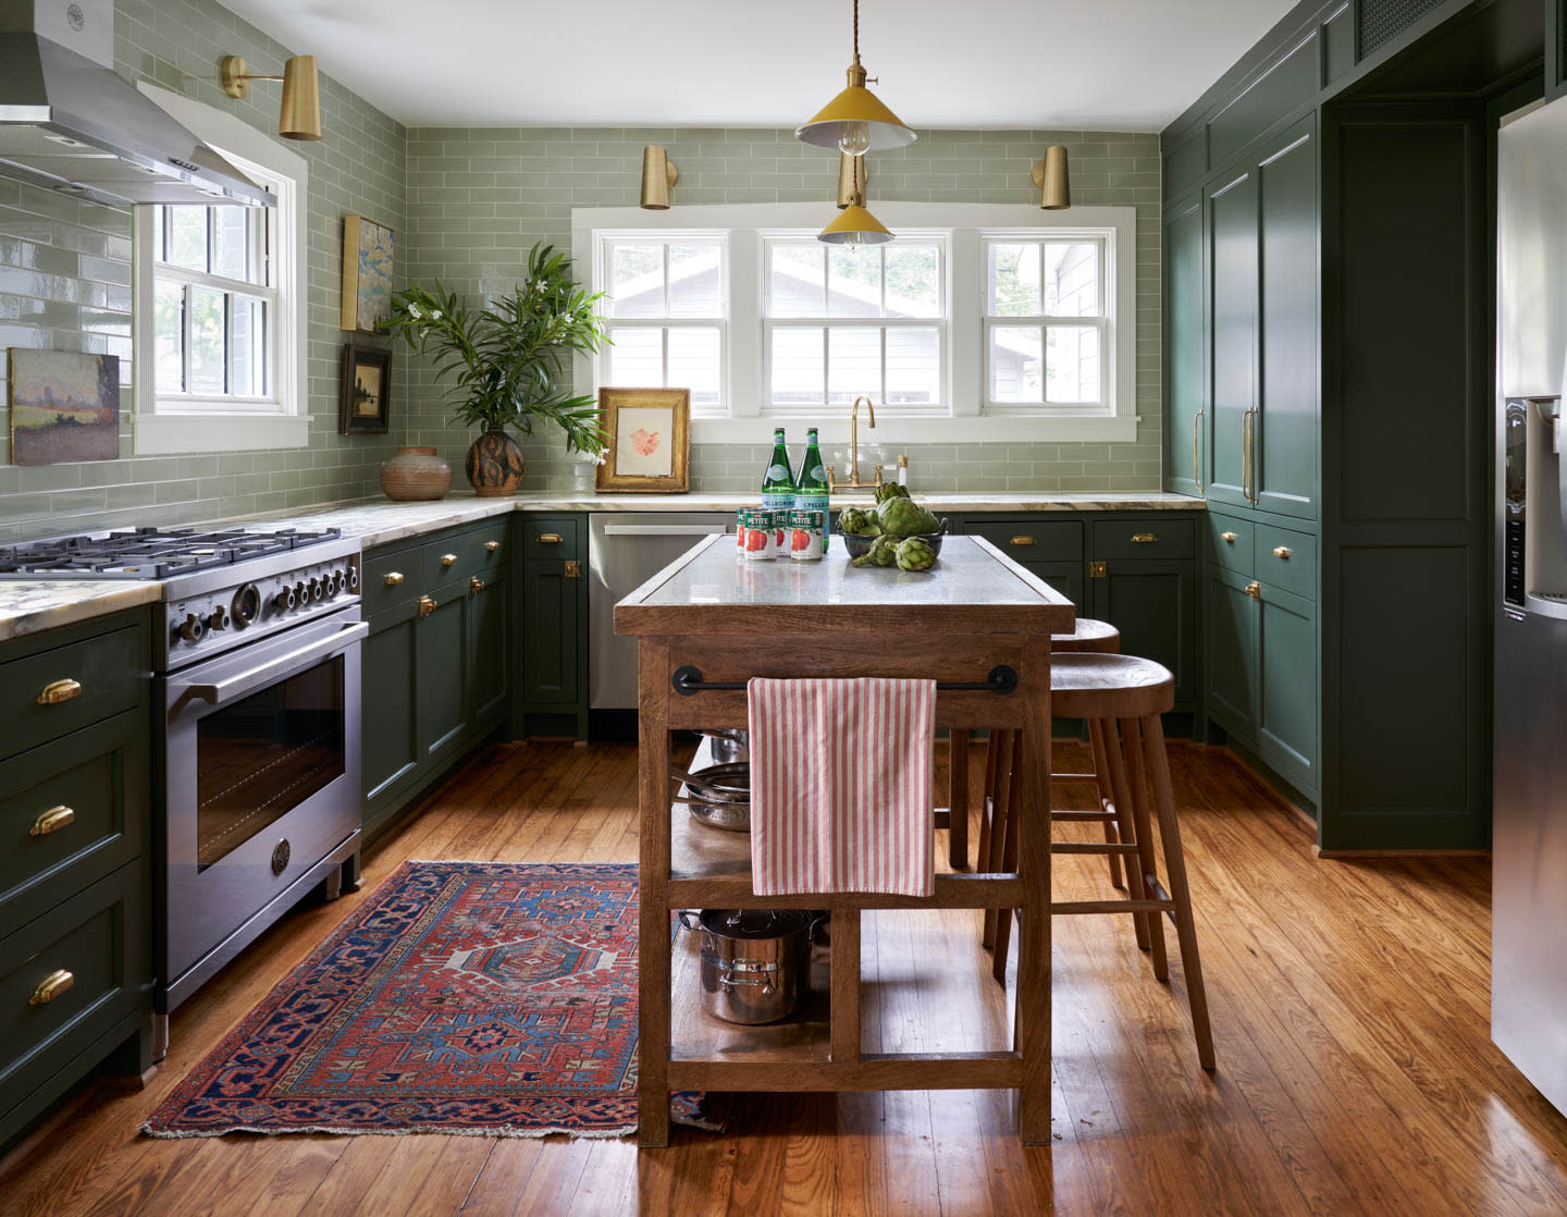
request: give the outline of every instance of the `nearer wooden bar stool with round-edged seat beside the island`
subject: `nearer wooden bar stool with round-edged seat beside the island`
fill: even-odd
[[[1164,725],[1160,715],[1175,704],[1175,678],[1169,668],[1150,659],[1106,654],[1051,654],[1050,659],[1051,714],[1064,718],[1087,718],[1097,723],[1105,740],[1105,759],[1109,770],[1117,811],[1130,803],[1131,816],[1117,820],[1117,842],[1053,842],[1051,853],[1109,853],[1127,858],[1128,899],[1124,900],[1055,900],[1053,916],[1073,913],[1130,913],[1138,925],[1138,946],[1153,955],[1153,975],[1169,979],[1164,957],[1164,932],[1158,914],[1164,913],[1175,922],[1175,938],[1180,944],[1182,969],[1186,977],[1186,996],[1191,1002],[1191,1023],[1197,1037],[1197,1057],[1202,1068],[1213,1070],[1213,1029],[1208,1024],[1208,997],[1202,983],[1202,961],[1197,955],[1197,927],[1191,913],[1191,891],[1186,883],[1186,861],[1180,847],[1180,825],[1175,820],[1175,792],[1171,787],[1169,759],[1164,754]],[[1014,767],[1015,768],[1015,767]],[[1164,853],[1164,875],[1169,889],[1158,877],[1153,855],[1152,812],[1160,820],[1160,841]],[[1017,823],[1026,811],[1012,797],[997,803],[1001,820],[992,826],[992,841],[1001,836],[1001,866],[1011,870],[1017,866]],[[1070,816],[1070,812],[1067,812]],[[1133,866],[1133,861],[1138,864]],[[1006,975],[1006,950],[1011,938],[1014,911],[998,910],[995,927],[995,958],[992,972],[997,979]]]

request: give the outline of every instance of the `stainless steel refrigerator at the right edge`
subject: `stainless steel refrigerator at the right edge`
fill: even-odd
[[[1567,1112],[1567,100],[1498,157],[1490,1034]]]

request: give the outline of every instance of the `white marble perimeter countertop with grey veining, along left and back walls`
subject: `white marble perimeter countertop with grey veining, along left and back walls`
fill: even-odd
[[[957,511],[1202,511],[1202,499],[1161,491],[1130,491],[1100,494],[1048,494],[981,491],[975,494],[920,494],[915,497],[935,514]],[[870,494],[834,496],[840,505],[870,502]],[[345,536],[359,538],[365,549],[439,532],[458,524],[501,516],[508,511],[735,511],[754,507],[754,494],[591,494],[550,492],[519,494],[509,499],[480,499],[475,494],[451,494],[437,502],[396,503],[370,499],[334,503],[307,511],[266,514],[273,527],[335,527]],[[238,524],[224,519],[212,524]],[[150,604],[160,599],[163,585],[157,580],[0,580],[0,641],[24,634],[36,634],[55,626],[69,626],[94,616]]]

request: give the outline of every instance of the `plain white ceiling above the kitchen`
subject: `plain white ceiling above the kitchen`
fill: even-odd
[[[851,58],[851,0],[226,3],[406,125],[794,127]],[[1158,130],[1291,6],[862,0],[860,58],[915,127]]]

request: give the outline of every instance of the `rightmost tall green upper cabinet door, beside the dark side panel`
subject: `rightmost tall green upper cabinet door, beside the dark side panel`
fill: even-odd
[[[1316,116],[1257,168],[1261,369],[1252,494],[1263,511],[1316,514]]]

